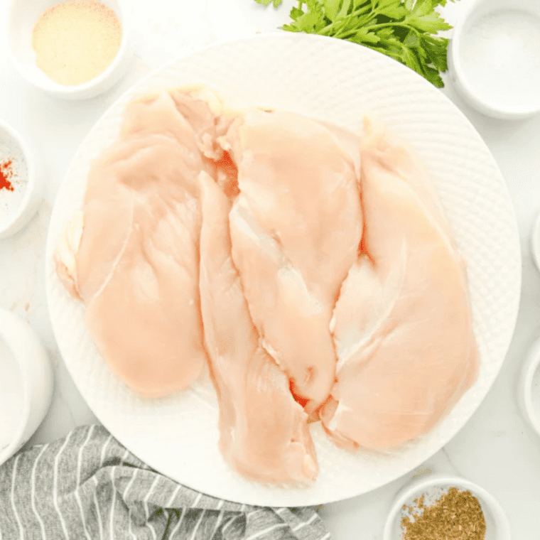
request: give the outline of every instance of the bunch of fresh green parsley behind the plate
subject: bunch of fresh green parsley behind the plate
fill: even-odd
[[[255,0],[274,7],[281,0]],[[436,37],[450,26],[437,11],[447,0],[298,0],[289,32],[345,39],[378,50],[420,73],[436,87],[448,69],[448,39]],[[454,0],[451,0],[454,1]]]

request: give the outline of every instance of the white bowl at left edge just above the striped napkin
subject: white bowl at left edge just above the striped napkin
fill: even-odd
[[[0,465],[33,435],[53,397],[53,370],[36,333],[0,308]]]

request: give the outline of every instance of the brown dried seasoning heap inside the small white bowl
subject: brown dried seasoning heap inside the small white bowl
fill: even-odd
[[[415,500],[414,521],[401,519],[404,540],[484,540],[485,517],[480,502],[470,491],[450,487],[448,493],[426,506],[424,496]],[[406,506],[403,508],[407,509]]]

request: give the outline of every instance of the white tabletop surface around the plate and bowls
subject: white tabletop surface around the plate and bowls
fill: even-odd
[[[446,18],[453,22],[468,1],[448,4]],[[5,3],[0,0],[0,14],[5,11]],[[284,0],[277,10],[271,6],[265,9],[254,0],[128,3],[137,23],[134,62],[116,87],[94,99],[64,102],[36,90],[12,68],[4,43],[0,43],[0,118],[21,132],[35,149],[46,178],[38,214],[16,236],[0,240],[0,306],[31,323],[55,367],[53,403],[25,448],[54,441],[75,426],[99,423],[60,357],[45,300],[43,254],[48,220],[77,147],[114,99],[148,72],[216,40],[273,31],[288,21],[293,0]],[[522,419],[516,400],[519,369],[531,343],[540,336],[540,274],[529,252],[529,232],[540,210],[540,116],[525,121],[496,121],[464,104],[450,82],[442,91],[485,140],[514,202],[523,254],[517,327],[495,384],[450,443],[409,475],[320,510],[335,540],[380,539],[387,510],[399,487],[413,474],[431,470],[461,475],[495,495],[507,512],[512,538],[540,538],[540,437]]]

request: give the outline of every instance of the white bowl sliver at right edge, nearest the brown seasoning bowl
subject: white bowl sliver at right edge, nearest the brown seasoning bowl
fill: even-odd
[[[523,364],[518,399],[523,416],[540,436],[540,338],[531,346]]]

